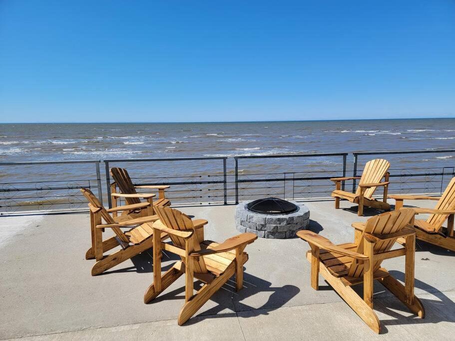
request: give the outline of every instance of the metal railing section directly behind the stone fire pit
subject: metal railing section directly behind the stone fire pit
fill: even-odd
[[[260,187],[249,187],[241,188],[243,190],[252,190],[252,193],[248,193],[247,196],[254,197],[258,195],[278,195],[285,198],[296,198],[296,189],[302,187],[317,187],[317,186],[328,186],[325,184],[315,184],[313,181],[317,180],[329,180],[330,178],[340,176],[346,176],[346,160],[348,153],[320,153],[320,154],[289,154],[289,155],[266,155],[266,156],[236,156],[234,157],[235,165],[235,203],[239,202],[239,196],[242,195],[239,193],[239,184],[246,183],[263,183],[265,186]],[[342,157],[341,169],[324,169],[316,170],[311,172],[281,172],[281,173],[249,173],[249,174],[239,174],[239,160],[246,159],[281,159],[281,158],[321,158],[321,157]],[[243,176],[243,179],[239,179],[239,176]],[[309,184],[296,184],[296,182],[310,181]],[[281,184],[282,183],[282,184]],[[292,197],[286,195],[287,184],[292,185]],[[279,186],[278,186],[279,185]],[[332,185],[333,187],[333,185]],[[283,192],[279,192],[273,189],[282,189]],[[268,190],[268,192],[273,193],[264,193],[263,190]],[[270,191],[272,189],[272,191]],[[344,184],[343,184],[344,189]],[[316,191],[314,193],[326,193],[327,191]],[[289,193],[289,192],[288,192]],[[300,197],[304,197],[303,192],[300,191]],[[307,193],[308,194],[308,193]]]

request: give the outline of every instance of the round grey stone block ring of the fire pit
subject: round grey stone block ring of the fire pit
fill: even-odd
[[[275,199],[275,198],[270,198]],[[250,210],[244,201],[235,209],[235,226],[240,232],[251,232],[261,238],[293,238],[297,231],[304,230],[310,222],[310,210],[304,204],[289,201],[297,206],[288,214],[265,214]]]

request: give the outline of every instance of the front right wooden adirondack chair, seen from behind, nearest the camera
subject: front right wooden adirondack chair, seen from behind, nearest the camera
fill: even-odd
[[[328,239],[311,231],[301,230],[297,236],[310,244],[307,258],[311,263],[311,286],[318,290],[318,274],[335,289],[343,300],[376,333],[381,323],[373,311],[373,280],[378,280],[402,301],[413,313],[424,318],[425,310],[414,295],[414,230],[408,228],[414,220],[412,209],[386,212],[371,217],[363,223],[355,223],[355,243],[332,244]],[[406,246],[391,250],[398,238],[406,239]],[[381,268],[385,259],[406,256],[405,285]],[[351,286],[364,284],[364,298]]]

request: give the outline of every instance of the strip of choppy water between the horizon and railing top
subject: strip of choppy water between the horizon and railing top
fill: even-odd
[[[0,125],[3,162],[232,157],[454,146],[455,119]]]

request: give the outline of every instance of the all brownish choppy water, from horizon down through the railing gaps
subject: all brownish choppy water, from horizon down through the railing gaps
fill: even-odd
[[[455,119],[353,120],[311,122],[246,123],[97,123],[97,124],[2,124],[0,125],[0,162],[57,161],[88,159],[177,158],[226,156],[228,195],[233,195],[234,156],[335,153],[387,150],[438,150],[455,148]],[[361,156],[359,169],[369,159],[384,157],[391,162],[391,173],[422,173],[422,177],[401,178],[396,191],[439,191],[441,184],[426,173],[454,172],[455,153]],[[126,167],[136,182],[188,182],[221,180],[222,160],[181,162],[111,162]],[[353,158],[348,156],[347,174],[352,174]],[[239,173],[245,178],[289,176],[341,176],[341,157],[242,159]],[[104,172],[101,164],[101,173]],[[286,174],[285,174],[286,173]],[[289,174],[287,174],[289,173]],[[298,175],[296,175],[298,174]],[[94,166],[32,165],[0,166],[1,188],[39,188],[34,193],[1,192],[3,199],[30,200],[54,198],[51,190],[57,182],[64,186],[85,186],[96,178]],[[446,176],[446,179],[450,177]],[[308,181],[293,185],[292,196],[299,191],[330,192],[333,185]],[[408,188],[408,182],[414,187]],[[411,181],[411,182],[410,182]],[[432,188],[426,183],[434,182]],[[40,182],[36,185],[36,182]],[[425,183],[425,187],[423,184]],[[44,184],[44,185],[43,185]],[[417,184],[417,185],[416,185]],[[420,185],[419,185],[420,184]],[[103,186],[105,186],[103,182]],[[242,187],[243,186],[243,187]],[[282,195],[279,182],[256,186],[244,184],[243,199],[261,193]],[[320,187],[320,191],[316,190]],[[421,186],[421,187],[419,187]],[[422,187],[424,186],[424,187]],[[267,188],[267,189],[265,189]],[[270,190],[269,190],[270,189]],[[277,189],[274,192],[274,189]],[[175,200],[209,201],[221,198],[222,185],[175,185],[170,196]],[[297,193],[295,193],[297,191]],[[201,192],[200,195],[198,192]],[[266,193],[267,192],[267,193]],[[259,194],[258,194],[259,193]],[[303,192],[302,192],[303,193]],[[251,195],[250,195],[251,194]],[[302,195],[307,195],[303,193]],[[25,195],[25,196],[24,196]],[[28,195],[28,196],[27,196]],[[58,197],[73,195],[59,193]],[[2,199],[0,197],[0,199]],[[50,199],[57,200],[57,199]],[[52,201],[53,202],[53,201]]]

